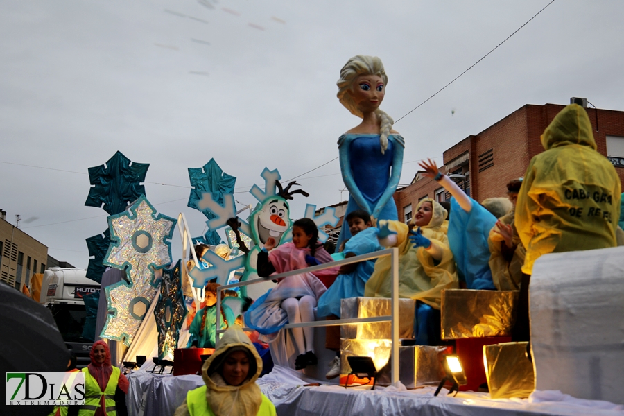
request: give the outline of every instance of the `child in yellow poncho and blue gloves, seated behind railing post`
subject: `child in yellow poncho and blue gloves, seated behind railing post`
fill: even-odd
[[[446,234],[447,215],[442,205],[427,198],[418,203],[410,225],[399,221],[379,221],[379,243],[385,247],[399,248],[399,297],[420,301],[416,338],[421,345],[437,345],[440,339],[438,320],[442,289],[459,287],[456,265]],[[412,227],[415,231],[410,231]],[[388,231],[383,232],[384,229]],[[390,235],[386,236],[388,232]],[[364,296],[391,297],[390,266],[390,256],[377,259],[374,272],[366,282]]]

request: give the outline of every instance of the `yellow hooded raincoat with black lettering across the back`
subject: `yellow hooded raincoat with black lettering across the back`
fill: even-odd
[[[620,216],[620,179],[596,151],[580,105],[557,114],[541,144],[546,151],[531,160],[516,204],[527,275],[542,254],[615,247]]]

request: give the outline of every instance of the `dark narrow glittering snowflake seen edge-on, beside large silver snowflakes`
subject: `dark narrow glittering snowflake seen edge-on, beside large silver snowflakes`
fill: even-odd
[[[187,306],[182,295],[182,281],[180,275],[181,260],[173,268],[162,270],[160,297],[154,310],[156,326],[158,328],[158,358],[173,354],[177,348],[180,329],[187,315]]]

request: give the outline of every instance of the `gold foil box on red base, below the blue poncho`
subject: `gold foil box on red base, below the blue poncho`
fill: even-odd
[[[442,291],[442,339],[510,336],[519,291]]]

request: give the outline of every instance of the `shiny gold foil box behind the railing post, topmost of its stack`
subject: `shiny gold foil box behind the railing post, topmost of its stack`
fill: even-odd
[[[340,318],[371,318],[390,315],[392,302],[388,297],[349,297],[341,300]],[[413,299],[399,299],[399,338],[414,338]],[[392,323],[371,322],[367,324],[342,325],[340,338],[380,340],[392,338]]]

